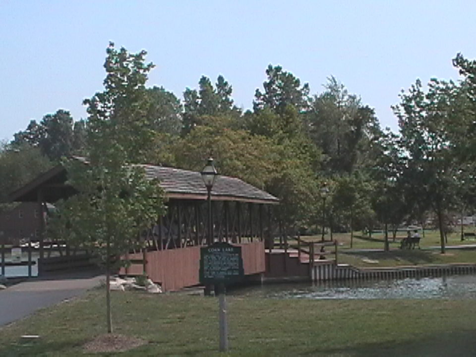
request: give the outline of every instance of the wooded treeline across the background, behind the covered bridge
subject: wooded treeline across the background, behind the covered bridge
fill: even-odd
[[[121,49],[118,56],[122,53],[128,55]],[[138,64],[152,68],[141,59]],[[128,156],[190,170],[200,170],[212,156],[220,174],[279,197],[279,219],[287,227],[310,233],[323,224],[340,231],[387,225],[391,230],[402,223],[425,225],[434,215],[444,251],[450,214],[472,213],[476,193],[476,61],[458,54],[453,63],[460,81],[431,79],[423,85],[416,80],[402,91],[392,107],[398,134],[382,129],[374,110],[336,78],[312,94],[307,83],[279,65],[266,68],[267,79],[247,111],[234,104],[232,84],[222,75],[215,83],[202,76],[181,99],[163,87],[131,90],[140,98],[121,105],[140,103],[140,111],[128,109],[141,118],[150,144],[128,140],[127,150],[140,150]],[[127,86],[143,85],[134,83],[130,68],[123,67]],[[107,110],[108,98],[101,103],[105,107],[95,108],[98,113]],[[138,122],[126,122],[117,135],[134,138]],[[58,110],[32,120],[4,143],[0,200],[61,157],[88,156],[88,125],[88,119],[74,121],[68,111]],[[324,186],[329,190],[326,222]]]

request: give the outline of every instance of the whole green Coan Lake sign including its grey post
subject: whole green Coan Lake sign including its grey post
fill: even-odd
[[[241,247],[217,242],[200,248],[200,283],[218,285],[220,352],[228,351],[226,285],[244,276]]]

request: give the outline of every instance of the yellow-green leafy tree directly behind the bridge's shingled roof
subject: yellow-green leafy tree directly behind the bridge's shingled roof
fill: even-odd
[[[276,195],[281,200],[278,214],[286,225],[307,224],[314,212],[317,184],[313,163],[319,160],[319,153],[311,150],[311,144],[306,146],[305,136],[297,131],[301,125],[296,128],[293,124],[296,116],[290,107],[287,116],[274,118],[286,131],[280,126],[272,137],[236,129],[227,116],[204,116],[201,125],[172,145],[173,161],[178,167],[200,170],[199,165],[212,155],[221,174]]]

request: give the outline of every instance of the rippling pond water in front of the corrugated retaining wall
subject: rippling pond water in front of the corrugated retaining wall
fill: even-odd
[[[233,290],[230,295],[310,299],[476,299],[476,275],[366,282],[268,284]]]

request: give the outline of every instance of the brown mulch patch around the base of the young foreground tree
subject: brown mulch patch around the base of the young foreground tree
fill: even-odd
[[[84,352],[88,353],[124,352],[145,345],[146,343],[147,341],[137,337],[105,334],[97,336],[94,340],[86,343],[83,349]]]

